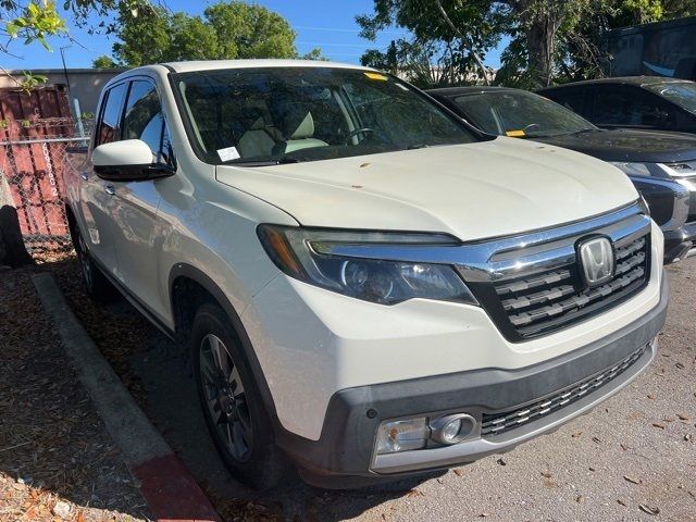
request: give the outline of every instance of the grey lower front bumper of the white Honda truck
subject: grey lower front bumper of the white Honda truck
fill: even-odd
[[[659,303],[644,316],[598,341],[531,366],[475,370],[337,391],[328,403],[319,440],[279,430],[276,442],[302,476],[321,487],[357,487],[508,451],[589,411],[645,370],[657,350],[668,298],[668,282],[662,277]],[[524,408],[612,369],[641,347],[645,350],[614,378],[518,428],[455,446],[374,455],[375,435],[383,421],[451,412],[481,417]]]

